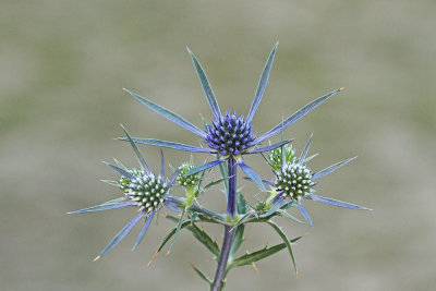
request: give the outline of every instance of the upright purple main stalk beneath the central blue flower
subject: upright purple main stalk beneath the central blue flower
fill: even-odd
[[[234,219],[237,215],[237,161],[230,158],[227,162],[229,179],[229,192],[227,196],[227,214]],[[215,272],[214,282],[210,287],[211,291],[222,290],[226,279],[227,262],[229,260],[230,248],[233,242],[235,229],[225,227],[225,239],[222,241],[221,253],[218,259],[218,267]]]

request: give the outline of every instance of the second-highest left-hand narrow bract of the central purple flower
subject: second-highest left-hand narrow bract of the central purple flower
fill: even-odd
[[[162,116],[164,118],[174,122],[175,124],[195,133],[196,135],[205,138],[206,134],[204,133],[204,131],[202,131],[201,129],[198,129],[197,126],[195,126],[194,124],[192,124],[191,122],[189,122],[187,120],[185,120],[184,118],[175,114],[174,112],[172,112],[171,110],[157,105],[140,95],[137,95],[136,93],[133,93],[131,90],[124,89],[126,93],[129,93],[131,96],[133,96],[136,100],[138,100],[140,102],[142,102],[143,105],[145,105],[146,107],[148,107],[149,109],[152,109],[153,111],[155,111],[156,113]]]

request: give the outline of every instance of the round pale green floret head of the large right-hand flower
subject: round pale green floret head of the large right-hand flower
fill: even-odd
[[[311,171],[305,165],[289,162],[277,173],[275,185],[277,192],[283,192],[283,197],[299,201],[313,192],[315,183],[311,179]]]

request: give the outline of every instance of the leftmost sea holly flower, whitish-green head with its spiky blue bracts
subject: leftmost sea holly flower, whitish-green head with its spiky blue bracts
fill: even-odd
[[[141,243],[143,240],[155,214],[164,206],[167,206],[169,209],[178,211],[180,198],[169,195],[169,190],[174,183],[175,179],[180,174],[180,170],[174,171],[171,178],[168,180],[165,178],[165,159],[164,154],[161,154],[161,170],[160,174],[156,175],[149,169],[144,156],[141,154],[132,138],[130,137],[128,131],[123,128],[128,141],[131,142],[131,145],[136,154],[136,157],[140,161],[141,169],[128,169],[122,163],[116,160],[117,165],[111,165],[105,162],[113,170],[116,170],[120,177],[117,181],[105,181],[109,184],[116,185],[121,189],[124,193],[122,197],[117,199],[112,199],[106,202],[104,204],[87,207],[81,210],[72,211],[70,214],[85,214],[93,211],[101,211],[114,208],[121,208],[125,206],[133,206],[137,208],[137,215],[125,225],[120,232],[117,233],[116,237],[109,242],[109,244],[101,251],[100,255],[98,255],[95,260],[99,259],[101,256],[106,255],[110,250],[112,250],[118,243],[121,242],[122,239],[132,230],[132,228],[143,218],[145,218],[145,225],[141,230],[133,250]]]

